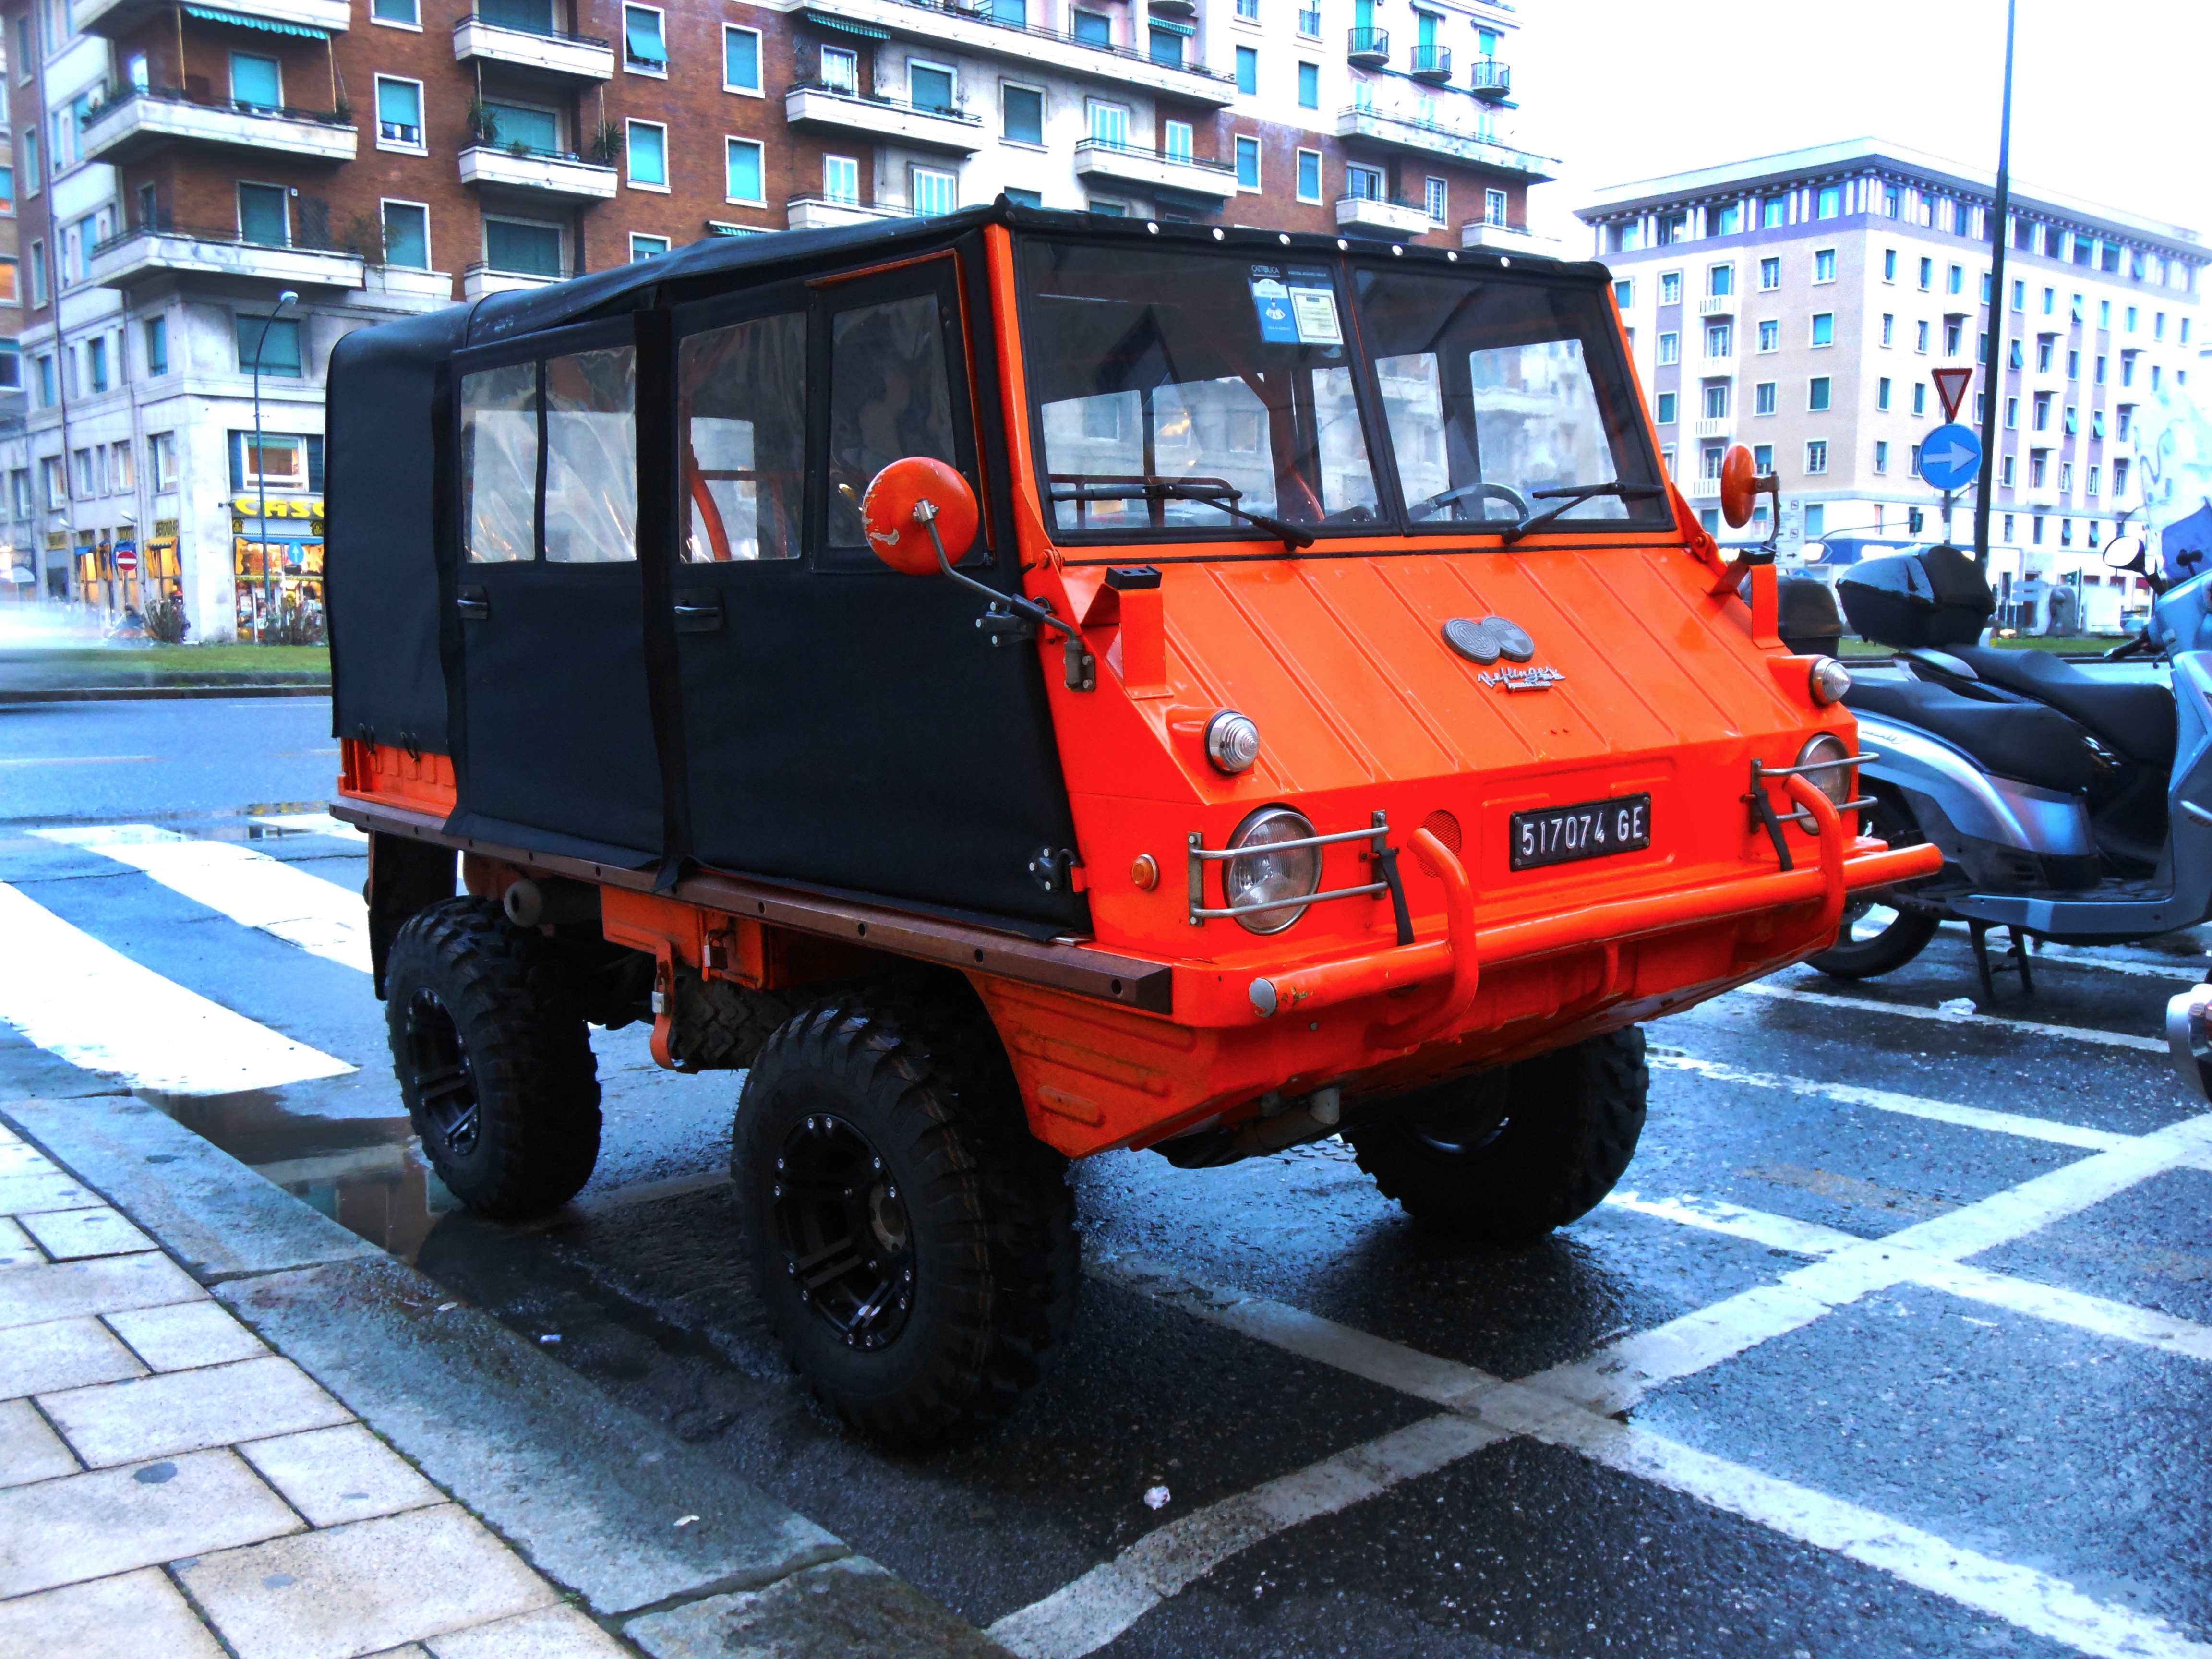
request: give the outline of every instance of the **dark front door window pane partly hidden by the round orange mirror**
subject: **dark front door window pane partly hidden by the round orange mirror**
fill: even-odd
[[[945,330],[931,294],[858,305],[838,312],[832,323],[830,546],[867,546],[860,498],[876,473],[900,456],[960,465],[945,380]]]

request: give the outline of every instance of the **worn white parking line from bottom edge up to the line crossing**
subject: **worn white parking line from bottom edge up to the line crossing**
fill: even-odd
[[[1254,1544],[1504,1438],[1504,1429],[1460,1416],[1422,1418],[1168,1522],[1042,1601],[1009,1613],[989,1635],[1022,1659],[1082,1659]]]

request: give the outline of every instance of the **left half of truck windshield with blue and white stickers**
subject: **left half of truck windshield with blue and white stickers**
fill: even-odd
[[[1055,533],[1380,518],[1338,274],[1031,241],[1026,367]]]

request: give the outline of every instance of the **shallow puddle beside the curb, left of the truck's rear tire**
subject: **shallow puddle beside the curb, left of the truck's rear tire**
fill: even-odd
[[[422,1254],[438,1221],[460,1210],[405,1117],[314,1117],[265,1088],[137,1097],[400,1261]]]

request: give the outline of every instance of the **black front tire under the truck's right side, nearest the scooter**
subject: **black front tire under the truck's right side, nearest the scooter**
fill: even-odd
[[[1347,1137],[1383,1197],[1433,1228],[1528,1243],[1588,1214],[1644,1133],[1644,1031],[1628,1026],[1425,1091]]]

